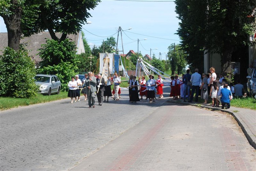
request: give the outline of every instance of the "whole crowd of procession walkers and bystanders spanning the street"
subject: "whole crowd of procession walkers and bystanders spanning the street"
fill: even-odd
[[[155,102],[156,95],[158,98],[163,98],[163,79],[161,75],[155,80],[153,75],[148,76],[149,80],[145,80],[145,76],[136,80],[136,76],[130,75],[129,84],[129,101],[137,103],[143,99],[149,99],[149,102]],[[208,97],[212,99],[212,105],[219,107],[222,103],[222,107],[229,108],[230,100],[232,99],[231,89],[228,84],[225,83],[225,79],[222,77],[219,81],[216,80],[217,75],[215,69],[210,68],[210,73],[201,74],[198,73],[198,69],[195,69],[195,73],[190,75],[190,70],[187,70],[186,74],[182,75],[182,80],[179,79],[178,75],[171,76],[171,92],[169,97],[173,97],[173,100],[183,99],[184,102],[192,102],[195,95],[195,102],[198,102],[199,91],[201,90],[201,99],[204,99],[204,104],[208,103]],[[113,91],[111,91],[111,85],[113,84]],[[72,80],[68,83],[69,92],[68,97],[80,101],[80,90],[85,96],[85,100],[88,99],[89,108],[95,108],[95,98],[97,96],[99,105],[103,102],[109,102],[109,97],[114,100],[120,98],[120,84],[121,79],[115,72],[113,77],[108,77],[107,80],[101,77],[101,74],[94,75],[93,72],[85,74],[84,79],[81,81],[79,75],[72,77]],[[240,84],[241,85],[241,84]],[[243,89],[241,86],[237,86],[237,89]],[[223,89],[223,90],[222,90]],[[239,91],[237,91],[239,92]],[[139,98],[140,96],[140,98]],[[103,100],[104,99],[104,100]],[[187,100],[186,100],[187,99]]]

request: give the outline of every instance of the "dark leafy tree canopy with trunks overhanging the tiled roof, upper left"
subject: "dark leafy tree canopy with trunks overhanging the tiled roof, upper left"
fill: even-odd
[[[8,32],[8,46],[19,49],[22,34],[30,36],[48,30],[52,39],[65,40],[67,34],[82,29],[88,10],[94,9],[100,0],[0,0],[0,16]],[[56,32],[62,33],[57,38]]]

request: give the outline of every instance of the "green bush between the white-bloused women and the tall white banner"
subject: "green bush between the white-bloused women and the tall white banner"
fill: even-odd
[[[93,58],[89,58],[90,55],[87,53],[81,53],[79,55],[77,55],[76,59],[77,59],[77,70],[76,73],[84,73],[84,72],[88,72],[88,71],[96,71],[97,68],[97,57],[96,56],[92,56]],[[90,66],[90,61],[91,61],[91,66]]]

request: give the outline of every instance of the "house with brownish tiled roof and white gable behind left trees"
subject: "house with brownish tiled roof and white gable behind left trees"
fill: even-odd
[[[56,33],[56,36],[60,38],[62,33]],[[69,34],[68,39],[75,42],[76,45],[76,54],[84,53],[84,43],[82,39],[82,32],[79,34]],[[39,63],[42,61],[38,55],[41,45],[46,43],[47,39],[52,39],[49,32],[40,32],[38,34],[33,34],[30,37],[22,37],[20,39],[20,44],[26,44],[26,49],[28,50],[28,55],[31,56],[32,60],[35,63],[35,68],[38,68]],[[8,46],[8,34],[0,33],[0,55],[3,54],[3,50]]]

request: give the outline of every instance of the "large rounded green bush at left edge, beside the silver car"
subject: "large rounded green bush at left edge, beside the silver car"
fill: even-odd
[[[0,96],[30,98],[37,95],[34,63],[22,47],[7,47],[0,56]]]

